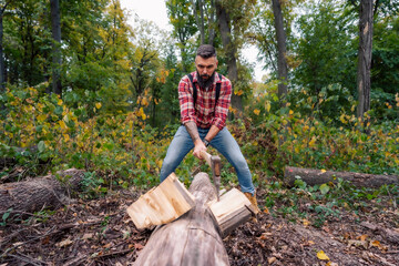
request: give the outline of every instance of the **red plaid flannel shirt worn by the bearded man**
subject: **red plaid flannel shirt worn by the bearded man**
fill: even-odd
[[[197,83],[197,72],[193,75],[194,85],[197,88],[197,99],[194,110],[193,88],[187,75],[183,76],[178,83],[178,101],[181,106],[181,121],[183,124],[194,121],[198,127],[208,129],[216,125],[219,130],[226,125],[228,106],[232,98],[232,82],[215,72],[214,84],[205,91]],[[216,83],[221,83],[221,94],[215,108]]]

